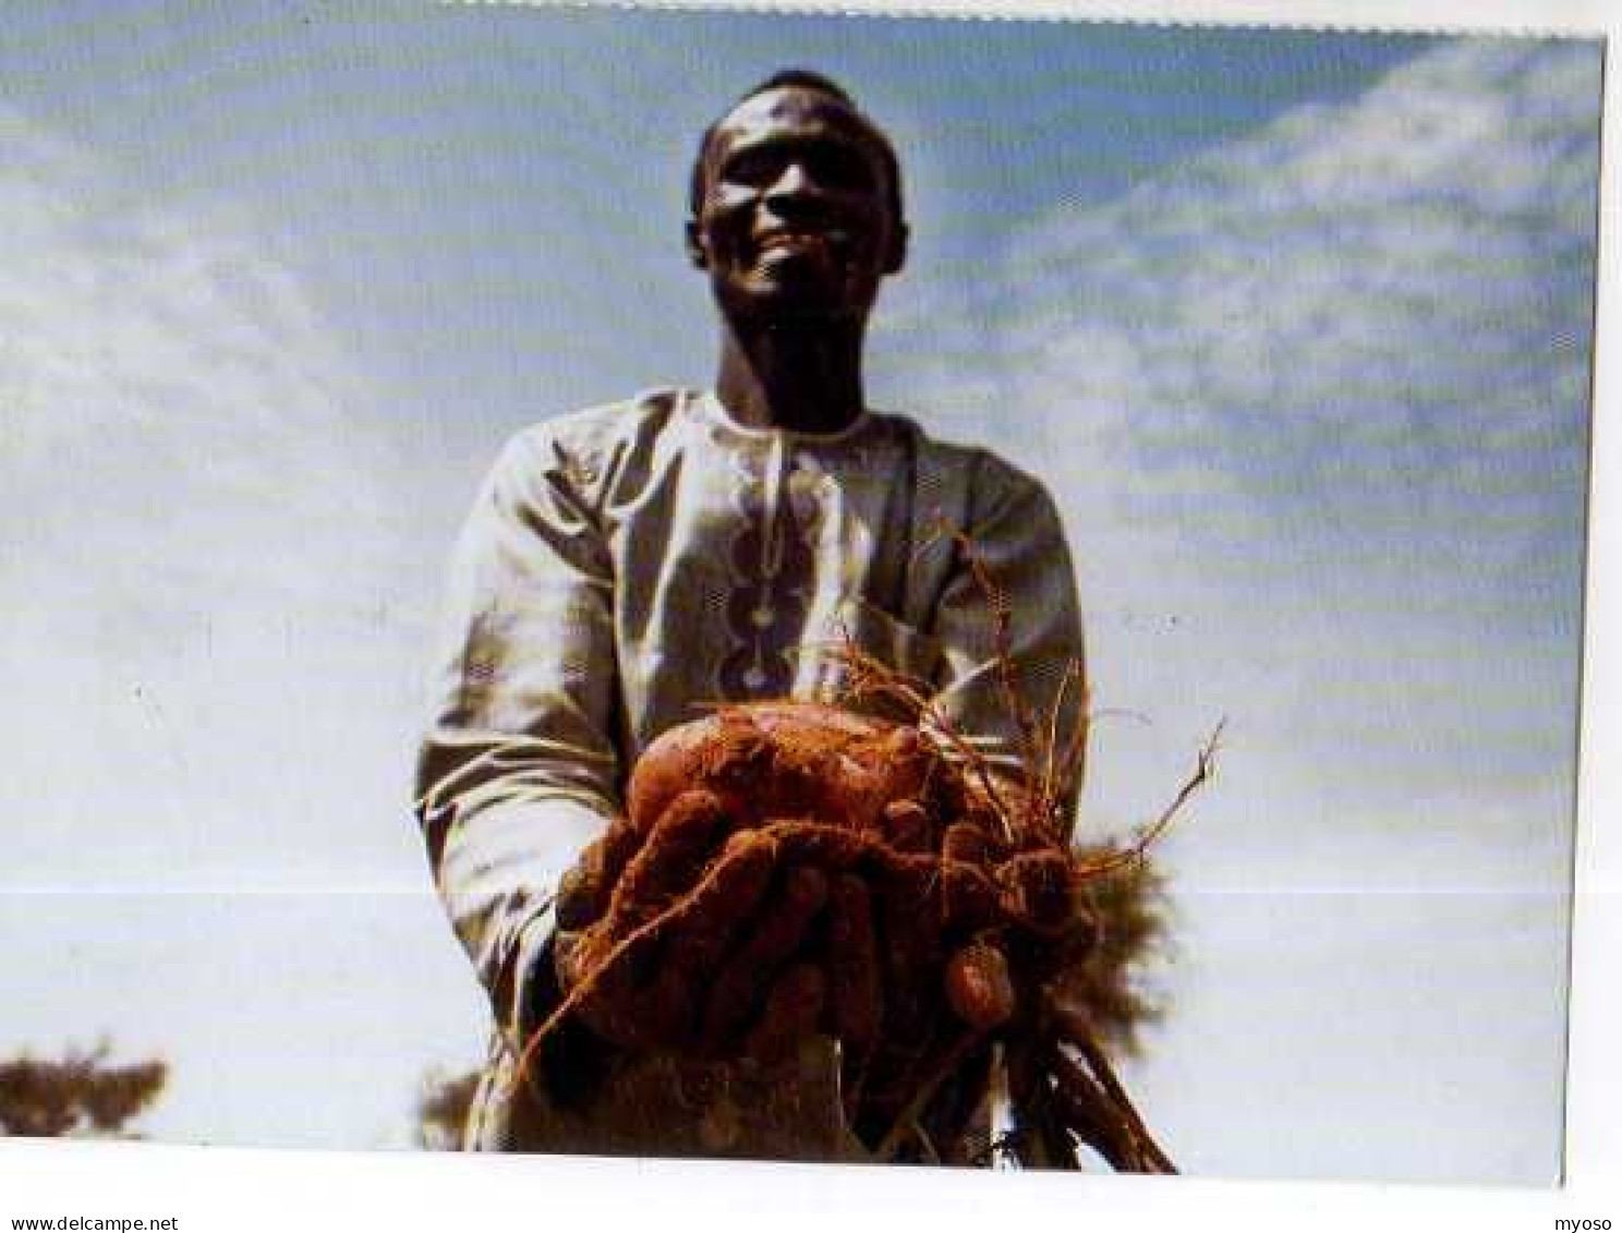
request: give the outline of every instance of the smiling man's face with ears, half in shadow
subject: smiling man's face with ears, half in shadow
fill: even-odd
[[[689,248],[728,315],[861,320],[902,264],[892,188],[878,140],[839,99],[772,89],[715,130]]]

